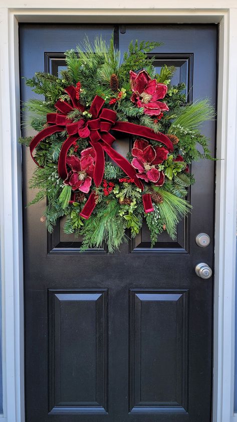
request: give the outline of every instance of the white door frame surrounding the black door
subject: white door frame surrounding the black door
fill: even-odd
[[[88,2],[89,3],[89,2]],[[119,6],[119,9],[118,9]],[[3,289],[4,415],[24,422],[23,226],[18,22],[219,23],[213,422],[232,422],[237,140],[236,0],[1,0],[0,223]],[[200,421],[201,422],[201,421]]]

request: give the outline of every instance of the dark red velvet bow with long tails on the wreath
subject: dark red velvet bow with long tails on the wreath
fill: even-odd
[[[59,100],[55,104],[58,112],[47,114],[47,123],[53,125],[41,130],[32,139],[30,144],[30,152],[34,162],[39,166],[39,163],[33,156],[33,151],[39,145],[39,143],[47,136],[66,129],[69,136],[62,145],[58,163],[59,176],[63,180],[65,180],[68,176],[66,165],[68,150],[78,139],[89,137],[89,142],[96,153],[94,170],[95,185],[99,186],[102,182],[105,168],[104,153],[106,153],[129,176],[129,178],[134,180],[136,186],[138,186],[143,191],[143,184],[141,180],[137,178],[136,170],[132,167],[128,160],[126,160],[112,148],[112,144],[116,138],[110,133],[110,130],[113,129],[118,132],[154,139],[157,142],[164,144],[169,151],[172,151],[173,145],[169,138],[163,133],[155,133],[152,129],[146,126],[140,126],[138,124],[126,121],[116,121],[116,112],[108,108],[102,109],[105,101],[98,95],[95,96],[89,110],[92,118],[87,121],[82,118],[77,122],[71,123],[71,120],[67,117],[67,114],[70,111],[73,111],[75,108],[81,110],[82,112],[85,110],[85,108],[76,99],[76,89],[74,86],[65,88],[65,91],[70,96],[72,105],[66,101]],[[95,205],[96,198],[94,192],[92,192],[83,210],[81,211],[81,216],[84,218],[89,218],[93,209],[95,208]],[[143,205],[145,212],[153,211],[150,194],[143,195]]]

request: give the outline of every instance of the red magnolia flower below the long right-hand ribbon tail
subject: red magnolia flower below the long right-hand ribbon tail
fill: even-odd
[[[132,166],[138,170],[137,177],[146,182],[153,182],[156,186],[164,183],[164,173],[158,170],[158,164],[168,157],[168,150],[164,147],[152,147],[144,139],[136,139],[132,149]]]

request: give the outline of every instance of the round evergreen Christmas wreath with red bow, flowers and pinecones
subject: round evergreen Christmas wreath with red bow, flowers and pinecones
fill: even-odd
[[[156,74],[147,53],[159,45],[131,42],[121,60],[113,38],[86,39],[66,51],[59,77],[37,72],[26,79],[45,98],[25,104],[38,134],[20,138],[37,164],[31,204],[47,197],[41,221],[52,232],[66,216],[64,230],[83,236],[82,250],[106,242],[113,252],[144,218],[151,247],[163,230],[174,238],[191,208],[190,164],[211,159],[199,125],[213,118],[213,107],[207,99],[185,105],[184,84],[170,83],[174,67]],[[132,140],[126,158],[113,148],[122,133]]]

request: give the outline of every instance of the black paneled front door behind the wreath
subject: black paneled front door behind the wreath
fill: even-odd
[[[63,52],[85,34],[102,34],[124,51],[133,39],[162,41],[155,65],[174,64],[186,98],[215,101],[216,37],[212,25],[21,25],[21,75],[57,74]],[[22,80],[22,100],[33,96]],[[203,132],[214,153],[215,123]],[[25,130],[24,134],[30,134]],[[128,140],[116,143],[126,154]],[[34,163],[24,149],[24,205],[34,193]],[[191,215],[177,238],[150,248],[144,225],[120,252],[80,253],[80,239],[59,221],[48,235],[45,203],[25,209],[25,359],[27,422],[210,422],[214,164],[193,164]],[[195,242],[207,233],[206,248]]]

